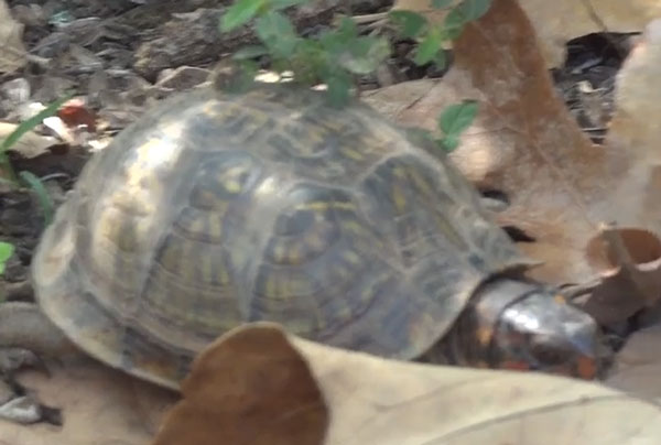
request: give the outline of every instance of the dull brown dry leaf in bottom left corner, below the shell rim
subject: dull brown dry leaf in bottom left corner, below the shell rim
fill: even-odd
[[[143,383],[91,359],[25,373],[21,382],[42,403],[62,409],[64,425],[0,421],[0,445],[145,445],[176,394]]]

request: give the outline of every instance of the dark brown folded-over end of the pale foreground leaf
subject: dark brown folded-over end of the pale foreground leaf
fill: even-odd
[[[196,358],[182,392],[153,445],[322,444],[328,425],[306,361],[278,328],[221,337]]]

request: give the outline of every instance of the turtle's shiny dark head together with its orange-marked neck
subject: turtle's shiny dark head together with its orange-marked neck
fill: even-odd
[[[457,362],[592,380],[608,356],[592,316],[541,285],[500,279],[483,286],[455,326]]]

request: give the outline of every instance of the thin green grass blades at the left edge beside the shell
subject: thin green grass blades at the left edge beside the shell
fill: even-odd
[[[9,161],[9,156],[7,155],[7,151],[11,149],[26,132],[39,126],[45,118],[55,115],[59,107],[69,100],[72,96],[73,94],[68,94],[55,100],[32,118],[21,122],[14,131],[4,138],[0,144],[0,171],[4,172],[9,180],[15,185],[25,185],[36,195],[46,225],[51,223],[53,217],[54,204],[51,197],[46,193],[41,181],[32,173],[22,171],[17,176],[11,162]]]

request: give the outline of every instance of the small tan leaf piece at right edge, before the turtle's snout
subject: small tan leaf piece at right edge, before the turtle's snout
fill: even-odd
[[[661,403],[661,325],[629,337],[606,384]]]

